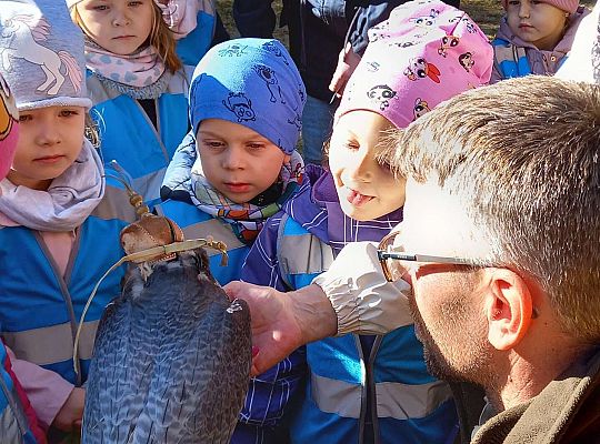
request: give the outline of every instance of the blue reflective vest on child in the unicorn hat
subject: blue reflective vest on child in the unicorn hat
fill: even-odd
[[[80,339],[81,375],[73,369],[73,341],[83,306],[102,274],[123,256],[119,234],[136,215],[118,183],[77,229],[63,278],[41,234],[24,226],[0,228],[0,325],[17,357],[60,374],[74,385],[88,376],[93,339],[104,306],[120,294],[121,266],[102,281]]]

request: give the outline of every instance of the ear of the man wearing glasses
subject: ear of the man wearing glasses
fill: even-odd
[[[497,350],[514,349],[531,323],[533,300],[521,276],[507,269],[487,269],[489,273],[486,316],[488,341]]]

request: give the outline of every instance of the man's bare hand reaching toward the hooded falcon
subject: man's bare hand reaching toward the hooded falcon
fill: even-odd
[[[250,306],[253,353],[251,375],[263,373],[308,342],[336,334],[337,317],[318,285],[281,293],[269,286],[228,283],[230,300],[242,299]]]

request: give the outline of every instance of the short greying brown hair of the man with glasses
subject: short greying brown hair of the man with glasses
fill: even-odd
[[[530,75],[458,95],[382,159],[459,198],[491,261],[532,276],[563,330],[600,340],[600,87]]]

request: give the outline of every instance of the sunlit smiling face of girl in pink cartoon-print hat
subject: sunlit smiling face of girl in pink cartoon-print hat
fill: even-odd
[[[392,128],[388,119],[361,110],[343,114],[333,127],[329,167],[341,208],[352,219],[373,220],[404,204],[406,181],[376,160],[382,131]]]

